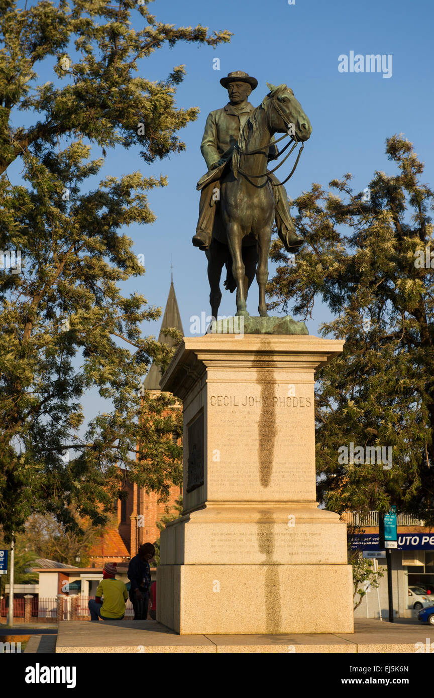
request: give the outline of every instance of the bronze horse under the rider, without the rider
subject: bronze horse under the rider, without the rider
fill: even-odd
[[[267,177],[269,145],[274,133],[286,133],[289,128],[294,147],[297,142],[308,140],[312,133],[310,121],[292,89],[285,84],[274,87],[268,82],[267,87],[269,94],[251,112],[220,179],[220,207],[206,251],[214,318],[220,306],[223,265],[227,269],[225,288],[230,292],[237,289],[236,314],[249,314],[246,299],[256,274],[258,311],[267,317],[265,286],[274,219],[273,186]]]

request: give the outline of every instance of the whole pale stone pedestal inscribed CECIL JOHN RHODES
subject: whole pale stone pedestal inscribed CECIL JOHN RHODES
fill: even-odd
[[[315,502],[313,336],[184,338],[184,515],[161,534],[157,620],[180,634],[353,632],[345,523]]]

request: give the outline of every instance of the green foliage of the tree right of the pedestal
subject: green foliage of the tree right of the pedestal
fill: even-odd
[[[346,174],[330,182],[338,195],[313,184],[295,200],[306,244],[291,268],[274,242],[270,305],[308,318],[319,296],[335,317],[322,336],[345,340],[315,375],[320,499],[336,512],[396,505],[433,523],[434,269],[417,264],[434,249],[433,191],[410,142],[395,135],[386,151],[398,172],[375,172],[368,197]],[[391,469],[338,463],[350,442],[393,447]]]

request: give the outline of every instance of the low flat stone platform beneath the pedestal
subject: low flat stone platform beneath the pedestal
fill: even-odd
[[[63,621],[57,653],[414,653],[433,636],[431,625],[359,620],[354,634],[178,635],[156,621]],[[26,648],[26,651],[27,648]],[[31,651],[31,650],[30,650]]]

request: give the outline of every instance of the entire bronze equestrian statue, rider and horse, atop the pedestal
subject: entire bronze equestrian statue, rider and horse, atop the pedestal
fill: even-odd
[[[267,163],[279,155],[276,142],[285,138],[283,135],[275,141],[274,133],[292,137],[292,152],[298,142],[308,140],[312,127],[285,84],[274,87],[267,83],[269,94],[256,108],[247,101],[257,86],[255,77],[237,70],[223,77],[220,84],[227,87],[230,102],[207,118],[201,151],[208,172],[197,183],[202,193],[193,245],[207,255],[214,318],[221,300],[223,265],[227,269],[225,288],[231,292],[237,289],[236,314],[248,315],[246,298],[256,274],[258,311],[266,317],[265,285],[273,221],[287,251],[297,251],[304,242],[295,232],[285,188],[272,171],[267,171]],[[294,169],[295,165],[292,172]]]

